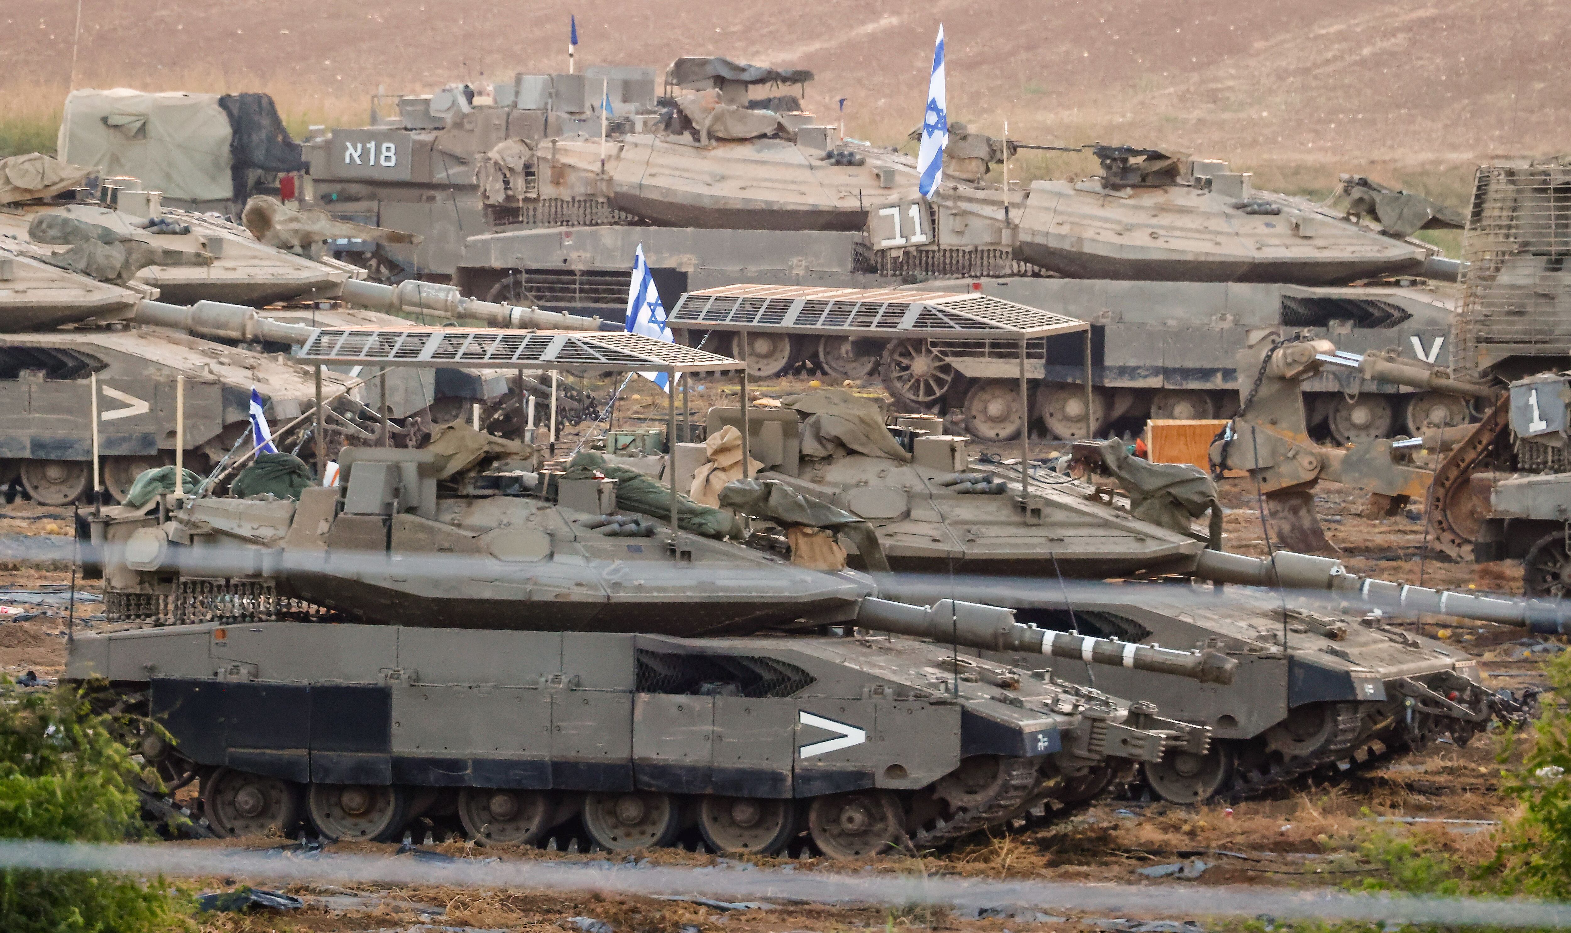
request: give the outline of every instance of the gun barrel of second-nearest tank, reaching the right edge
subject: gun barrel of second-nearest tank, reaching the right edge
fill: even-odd
[[[1434,613],[1527,628],[1538,635],[1571,635],[1571,620],[1560,603],[1516,597],[1478,595],[1426,586],[1408,586],[1348,573],[1342,561],[1277,551],[1271,558],[1249,558],[1224,551],[1200,551],[1196,575],[1216,583],[1280,586],[1285,589],[1324,589],[1356,595],[1378,609],[1395,613]]]

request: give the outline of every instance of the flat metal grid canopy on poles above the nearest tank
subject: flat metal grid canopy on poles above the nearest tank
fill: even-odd
[[[454,327],[320,328],[297,357],[322,366],[476,366],[622,372],[729,372],[742,363],[638,333],[470,330]]]

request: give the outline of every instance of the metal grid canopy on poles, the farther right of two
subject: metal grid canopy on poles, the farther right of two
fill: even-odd
[[[682,295],[666,322],[699,330],[855,336],[1043,338],[1084,320],[965,292],[721,286]]]

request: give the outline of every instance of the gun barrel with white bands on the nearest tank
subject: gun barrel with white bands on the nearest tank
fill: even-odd
[[[858,608],[856,624],[991,652],[1029,652],[1089,664],[1177,674],[1200,683],[1232,683],[1233,671],[1238,669],[1238,661],[1219,652],[1178,652],[1133,641],[1068,635],[1015,622],[1012,609],[958,600],[913,606],[867,597]]]

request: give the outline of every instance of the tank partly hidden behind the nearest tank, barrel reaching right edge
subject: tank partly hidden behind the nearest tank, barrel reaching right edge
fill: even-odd
[[[1247,795],[1320,767],[1422,749],[1445,734],[1464,745],[1492,718],[1519,715],[1516,701],[1481,686],[1475,660],[1412,635],[1393,616],[1563,630],[1552,603],[1398,587],[1288,551],[1274,562],[1227,554],[1210,479],[1134,460],[1117,441],[1089,445],[1095,456],[1082,460],[1090,466],[1084,481],[1043,473],[1023,498],[1018,466],[969,459],[960,437],[911,427],[880,435],[877,412],[864,408],[870,404],[836,391],[789,399],[782,412],[749,412],[751,456],[765,466],[760,479],[866,518],[899,598],[987,598],[1049,630],[1203,647],[1240,661],[1233,683],[1202,690],[1053,661],[1056,677],[1152,701],[1164,715],[1213,729],[1205,756],[1175,752],[1142,765],[1164,799]],[[735,408],[709,413],[712,432],[738,424]],[[1178,518],[1137,518],[1114,507],[1114,495],[1145,515]],[[1192,531],[1189,517],[1207,507],[1211,528]],[[1109,580],[1117,584],[1100,583]],[[1010,652],[983,657],[1020,661]]]

